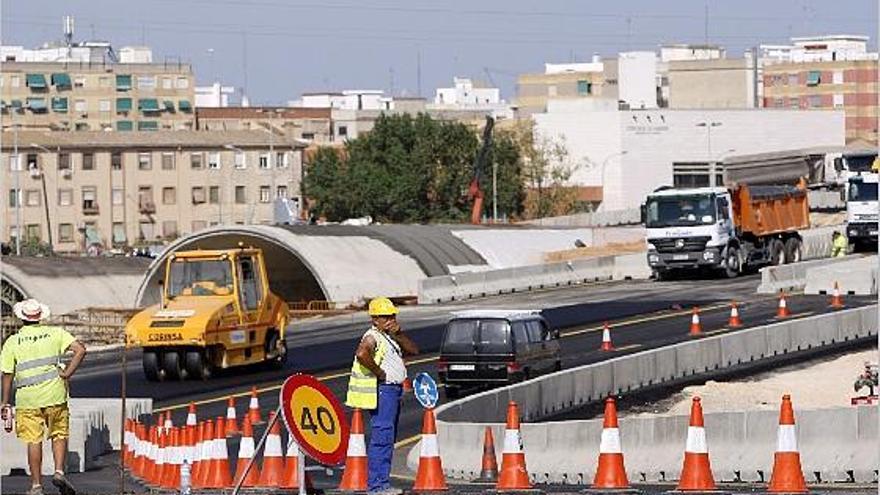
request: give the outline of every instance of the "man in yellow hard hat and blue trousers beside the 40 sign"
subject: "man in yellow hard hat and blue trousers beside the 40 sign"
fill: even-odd
[[[401,330],[398,310],[391,300],[373,299],[368,313],[372,326],[355,352],[345,403],[370,411],[367,489],[373,494],[395,495],[402,493],[391,486],[390,477],[400,399],[406,380],[403,356],[418,354],[419,348]]]

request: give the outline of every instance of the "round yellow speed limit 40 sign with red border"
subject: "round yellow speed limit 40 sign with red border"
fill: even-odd
[[[311,375],[293,375],[281,387],[280,404],[287,431],[306,455],[329,466],[345,460],[348,421],[326,385]]]

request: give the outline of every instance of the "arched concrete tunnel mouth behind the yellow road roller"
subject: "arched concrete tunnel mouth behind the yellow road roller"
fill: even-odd
[[[259,248],[266,260],[269,287],[286,302],[324,301],[327,299],[321,284],[303,260],[289,248],[265,238],[242,233],[218,234],[193,239],[174,247],[176,251],[194,249],[231,249],[241,242],[245,246]],[[149,280],[141,287],[138,306],[159,303],[159,280],[164,275],[165,260],[171,252],[165,252],[151,265]]]

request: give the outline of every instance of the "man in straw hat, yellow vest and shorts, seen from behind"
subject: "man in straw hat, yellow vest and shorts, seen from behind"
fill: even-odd
[[[64,475],[67,438],[70,436],[68,380],[86,355],[86,348],[64,329],[41,324],[49,317],[49,308],[35,299],[13,306],[22,327],[9,337],[0,350],[3,398],[0,414],[8,418],[15,388],[15,434],[27,443],[31,488],[28,495],[42,495],[43,437],[52,441],[55,472],[52,484],[61,495],[75,495],[76,490]],[[68,351],[73,358],[62,367],[61,357]]]

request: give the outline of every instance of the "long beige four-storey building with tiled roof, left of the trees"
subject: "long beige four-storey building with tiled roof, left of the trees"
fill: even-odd
[[[272,223],[276,198],[301,204],[305,144],[267,132],[21,131],[0,138],[4,242],[14,243],[21,225],[22,239],[51,239],[57,252],[123,248],[210,225]]]

